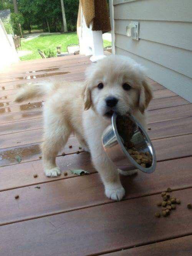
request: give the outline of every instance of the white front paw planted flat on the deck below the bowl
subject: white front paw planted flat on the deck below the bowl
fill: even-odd
[[[121,201],[125,195],[125,190],[122,185],[116,187],[113,185],[108,185],[105,187],[105,194],[109,199],[115,201]]]

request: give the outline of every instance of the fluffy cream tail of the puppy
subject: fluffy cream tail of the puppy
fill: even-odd
[[[53,84],[51,83],[36,83],[31,85],[26,85],[15,96],[15,102],[22,102],[24,100],[32,99],[35,97],[48,95],[53,89]]]

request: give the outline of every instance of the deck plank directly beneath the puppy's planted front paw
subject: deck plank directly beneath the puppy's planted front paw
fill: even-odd
[[[152,174],[147,175],[139,171],[137,176],[122,176],[122,185],[126,189],[126,199],[161,193],[167,187],[171,187],[172,190],[192,187],[192,181],[190,179],[192,172],[191,163],[192,157],[165,161],[158,163],[156,171]],[[36,173],[34,170],[28,173],[30,183],[39,180],[39,178],[33,178],[34,173]],[[70,172],[68,173],[70,175]],[[16,173],[14,171],[15,175]],[[15,176],[15,180],[19,178],[21,178],[20,175]],[[40,173],[40,179],[42,178],[42,173]],[[112,201],[106,198],[98,173],[75,177],[73,179],[66,178],[66,176],[62,175],[61,178],[63,180],[39,184],[40,189],[37,189],[36,185],[32,185],[1,192],[0,201],[2,202],[2,210],[0,210],[0,225],[73,211],[110,203]],[[13,179],[11,178],[9,181],[12,182]],[[9,186],[10,182],[8,183]],[[0,190],[2,188],[1,185],[5,186],[3,181],[0,183]],[[19,201],[14,200],[16,194],[20,196]],[[18,203],[19,207],[17,207]]]

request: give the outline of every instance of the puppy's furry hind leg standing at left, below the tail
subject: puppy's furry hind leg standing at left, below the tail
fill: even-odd
[[[61,174],[61,170],[56,166],[56,156],[61,147],[64,146],[70,136],[68,125],[60,120],[52,120],[45,126],[45,141],[42,145],[43,168],[45,175],[56,177]]]

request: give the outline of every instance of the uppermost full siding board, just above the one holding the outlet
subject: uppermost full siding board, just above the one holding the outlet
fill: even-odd
[[[192,22],[191,0],[138,0],[114,5],[114,19]]]

